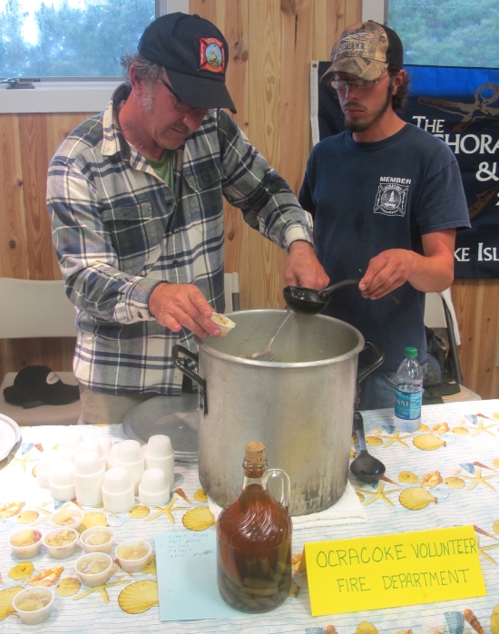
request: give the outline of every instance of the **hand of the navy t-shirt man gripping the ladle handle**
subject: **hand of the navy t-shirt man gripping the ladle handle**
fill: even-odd
[[[358,285],[362,297],[378,299],[405,284],[416,268],[415,255],[406,249],[388,249],[372,258]]]

